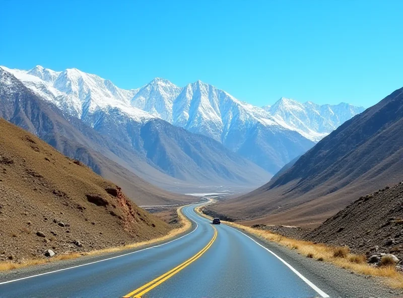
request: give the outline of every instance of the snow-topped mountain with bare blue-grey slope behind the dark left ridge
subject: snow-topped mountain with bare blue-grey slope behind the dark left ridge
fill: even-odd
[[[66,119],[63,125],[68,123],[81,132],[88,132],[81,138],[82,144],[88,142],[86,138],[102,139],[104,143],[100,143],[96,151],[147,181],[180,191],[176,188],[200,184],[252,187],[264,184],[271,177],[221,143],[189,133],[129,106],[131,95],[127,96],[99,77],[68,69],[60,72],[55,80],[45,82],[28,72],[13,70],[35,95],[43,99],[39,109],[52,106],[53,112]],[[46,96],[43,90],[49,91]],[[12,102],[7,99],[8,104]],[[4,117],[10,120],[10,113],[8,115]],[[65,128],[61,130],[66,131]],[[157,130],[169,132],[170,137]],[[152,134],[153,138],[150,137]],[[92,145],[86,147],[94,148]]]

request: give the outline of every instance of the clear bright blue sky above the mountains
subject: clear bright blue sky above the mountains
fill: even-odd
[[[116,2],[0,0],[0,65],[201,80],[258,106],[369,107],[403,87],[403,1]]]

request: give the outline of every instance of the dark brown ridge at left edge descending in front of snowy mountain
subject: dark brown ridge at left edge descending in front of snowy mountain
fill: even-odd
[[[81,120],[68,117],[40,100],[11,73],[0,68],[0,116],[37,135],[66,156],[119,184],[138,204],[174,204],[195,198],[163,191],[135,173],[155,177],[160,183],[178,180],[163,175],[124,146],[100,135]],[[67,118],[66,118],[67,117]]]

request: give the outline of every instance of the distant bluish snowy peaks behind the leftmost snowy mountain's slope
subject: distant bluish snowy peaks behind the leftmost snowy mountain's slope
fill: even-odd
[[[302,104],[286,99],[271,109],[258,108],[200,81],[179,88],[159,78],[141,88],[131,104],[214,138],[272,174],[364,110],[348,104],[305,103],[300,111]]]

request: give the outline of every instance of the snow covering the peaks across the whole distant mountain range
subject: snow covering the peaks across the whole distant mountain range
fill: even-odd
[[[4,69],[38,96],[75,117],[83,119],[99,110],[116,108],[136,121],[159,117],[223,143],[256,125],[294,130],[318,141],[364,110],[346,103],[317,105],[285,97],[260,108],[200,80],[181,88],[157,77],[140,89],[124,90],[77,68],[54,71],[37,65],[30,70]]]

